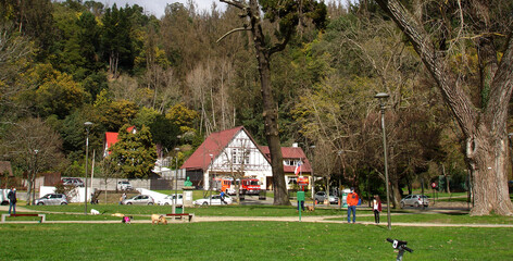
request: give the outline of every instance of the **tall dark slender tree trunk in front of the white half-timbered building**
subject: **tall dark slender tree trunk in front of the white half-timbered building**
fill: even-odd
[[[256,0],[250,0],[251,9],[251,33],[253,36],[254,50],[259,62],[260,87],[263,100],[263,117],[265,127],[265,138],[267,139],[271,153],[271,167],[273,169],[273,190],[274,204],[289,206],[290,200],[287,194],[285,182],[284,160],[278,132],[278,113],[275,109],[272,86],[270,50],[265,46],[265,37],[262,32],[260,21],[260,9]]]

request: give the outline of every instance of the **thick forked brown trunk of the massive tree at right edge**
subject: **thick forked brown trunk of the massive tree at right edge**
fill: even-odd
[[[424,65],[437,83],[445,103],[451,110],[466,140],[464,146],[465,160],[472,172],[472,186],[475,204],[472,215],[487,215],[492,212],[500,215],[513,215],[513,204],[508,192],[508,146],[506,119],[508,105],[513,89],[513,41],[512,28],[509,27],[503,55],[496,72],[492,61],[480,59],[481,67],[489,66],[481,75],[488,75],[488,98],[483,108],[476,108],[471,97],[464,92],[461,76],[455,74],[443,52],[435,48],[427,32],[418,24],[397,0],[377,0],[405,34],[413,48],[421,57]],[[488,4],[484,2],[484,4]],[[487,8],[487,7],[486,7]],[[485,11],[488,11],[484,9]],[[489,15],[484,11],[484,15]],[[479,17],[480,18],[480,17]],[[477,21],[483,22],[483,21]],[[471,26],[472,27],[472,26]],[[476,35],[490,35],[490,32],[475,32]],[[483,36],[479,36],[483,37]],[[492,42],[481,41],[481,46],[491,47]],[[490,55],[487,49],[478,55]],[[499,55],[495,49],[495,55]],[[491,63],[491,64],[490,64]],[[465,87],[466,88],[466,87]]]

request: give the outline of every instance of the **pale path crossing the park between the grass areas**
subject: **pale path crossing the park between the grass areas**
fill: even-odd
[[[0,206],[0,211],[9,211],[9,206]],[[425,213],[447,213],[450,210],[428,210],[424,211]],[[464,213],[463,210],[452,210],[451,212],[459,212]],[[23,207],[16,207],[16,212],[42,212],[42,211],[34,211],[28,210]],[[46,212],[50,213],[50,212]],[[62,213],[62,212],[53,212],[53,213]],[[74,213],[74,214],[83,214],[83,213]],[[393,215],[400,214],[412,214],[412,213],[395,213]],[[359,216],[372,216],[372,214],[361,214]],[[140,219],[138,219],[140,217]],[[151,223],[149,215],[138,215],[133,223]],[[143,220],[142,220],[143,219]],[[308,215],[301,216],[301,222],[311,222],[311,223],[331,223],[331,224],[348,224],[346,221],[346,215]],[[299,216],[195,216],[193,222],[233,222],[233,221],[275,221],[275,222],[299,222]],[[175,221],[170,223],[180,223],[182,221]],[[4,224],[13,224],[13,223],[38,223],[37,221],[11,221],[5,222]],[[121,223],[121,221],[112,220],[112,221],[46,221],[45,223],[50,224],[114,224]],[[1,224],[1,223],[0,223]],[[375,224],[374,222],[356,222],[356,225],[379,225],[379,226],[387,226],[387,223]],[[398,223],[392,222],[392,226],[417,226],[417,227],[513,227],[513,224],[446,224],[446,223]]]

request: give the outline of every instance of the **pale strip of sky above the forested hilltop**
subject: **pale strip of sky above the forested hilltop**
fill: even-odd
[[[145,9],[149,14],[154,14],[155,17],[160,18],[164,15],[164,9],[167,4],[174,2],[180,2],[187,4],[187,0],[95,0],[96,2],[102,2],[105,7],[112,7],[116,3],[117,8],[137,4]],[[193,0],[198,5],[199,10],[210,10],[212,8],[212,2],[217,4],[217,8],[225,5],[225,3],[220,2],[218,0]]]

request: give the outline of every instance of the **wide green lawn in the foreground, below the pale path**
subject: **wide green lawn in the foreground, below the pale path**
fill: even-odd
[[[513,228],[299,222],[3,224],[0,260],[512,260]]]

